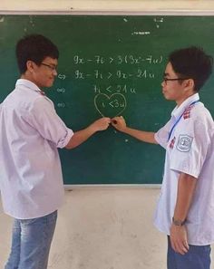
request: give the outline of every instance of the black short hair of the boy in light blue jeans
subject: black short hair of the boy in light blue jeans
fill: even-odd
[[[27,61],[33,61],[40,65],[45,57],[59,58],[56,45],[42,34],[25,35],[16,43],[15,53],[21,74],[26,71]]]

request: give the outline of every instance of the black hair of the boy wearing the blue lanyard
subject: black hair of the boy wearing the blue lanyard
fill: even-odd
[[[181,78],[193,79],[194,91],[199,91],[212,72],[213,57],[202,48],[191,46],[170,53],[169,62]]]

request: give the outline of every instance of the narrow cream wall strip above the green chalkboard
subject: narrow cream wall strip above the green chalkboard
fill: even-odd
[[[212,0],[1,0],[2,11],[211,11],[214,9]]]

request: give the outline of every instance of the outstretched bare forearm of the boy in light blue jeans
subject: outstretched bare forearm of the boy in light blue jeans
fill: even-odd
[[[73,149],[82,144],[85,140],[89,139],[93,134],[95,133],[95,130],[92,129],[91,126],[83,129],[78,130],[74,132],[72,139],[68,142],[66,149]]]

